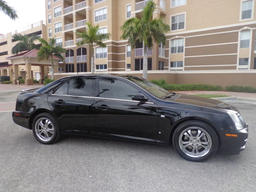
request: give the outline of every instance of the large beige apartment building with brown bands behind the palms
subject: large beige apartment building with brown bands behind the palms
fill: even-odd
[[[143,45],[131,49],[120,27],[142,16],[148,0],[46,0],[46,39],[55,37],[67,52],[54,78],[90,73],[90,46],[76,46],[86,23],[111,34],[107,48],[96,45],[96,73],[142,76]],[[153,18],[170,25],[166,44],[148,49],[148,78],[168,83],[256,87],[255,0],[154,0]],[[1,47],[1,46],[0,46]],[[1,56],[0,56],[1,57]],[[48,74],[50,76],[50,73]]]

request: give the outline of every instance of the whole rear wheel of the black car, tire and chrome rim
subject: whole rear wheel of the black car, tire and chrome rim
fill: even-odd
[[[46,130],[43,130],[44,128],[42,128],[42,126],[39,125],[40,121],[46,122],[46,120],[48,120],[47,122],[51,122],[51,124],[49,123],[49,127],[51,129],[48,130],[54,130],[53,134],[52,131],[47,130],[48,126]],[[41,113],[38,116],[36,116],[33,120],[32,130],[36,140],[43,144],[53,144],[54,142],[57,142],[60,139],[60,128],[58,122],[56,121],[54,116],[52,116],[49,113]],[[40,133],[38,133],[38,130],[40,131]]]

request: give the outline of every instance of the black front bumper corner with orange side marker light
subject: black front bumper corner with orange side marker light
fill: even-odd
[[[239,154],[246,147],[248,140],[248,126],[242,130],[227,131],[222,130],[220,133],[220,152],[224,154]],[[227,135],[232,136],[227,136]]]

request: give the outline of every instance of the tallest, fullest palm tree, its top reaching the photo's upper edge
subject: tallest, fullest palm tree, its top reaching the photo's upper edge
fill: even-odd
[[[123,32],[121,39],[128,40],[134,49],[136,41],[143,42],[143,78],[148,78],[148,48],[152,48],[153,41],[157,44],[165,45],[165,32],[170,30],[170,26],[162,18],[151,19],[156,4],[150,0],[142,11],[142,18],[130,18],[121,26]]]

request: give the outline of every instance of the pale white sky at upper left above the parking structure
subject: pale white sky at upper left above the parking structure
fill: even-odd
[[[40,20],[45,21],[45,0],[5,1],[16,10],[19,18],[14,21],[0,12],[0,34],[24,28],[28,24],[33,24]]]

